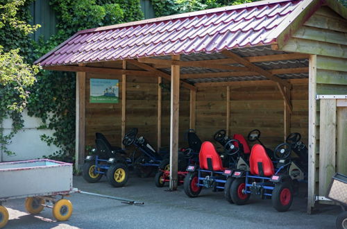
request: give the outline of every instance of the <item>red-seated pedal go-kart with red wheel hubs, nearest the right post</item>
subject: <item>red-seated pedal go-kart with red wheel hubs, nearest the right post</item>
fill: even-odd
[[[250,171],[237,170],[230,186],[230,197],[237,205],[243,205],[251,194],[262,198],[271,198],[273,207],[278,212],[285,212],[293,201],[293,185],[288,174],[291,146],[287,143],[278,145],[273,151],[276,161],[271,161],[266,149],[255,144],[251,151]]]

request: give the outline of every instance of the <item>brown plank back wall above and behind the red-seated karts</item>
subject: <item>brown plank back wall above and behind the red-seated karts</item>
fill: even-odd
[[[291,132],[301,133],[307,143],[307,79],[291,80]],[[296,82],[296,83],[294,83]],[[226,129],[226,87],[199,88],[196,94],[196,132],[202,140],[213,141],[213,135]],[[230,85],[230,133],[245,137],[257,128],[260,139],[269,148],[283,142],[283,99],[278,87],[269,81],[257,85],[247,82]],[[221,147],[217,142],[215,146]]]

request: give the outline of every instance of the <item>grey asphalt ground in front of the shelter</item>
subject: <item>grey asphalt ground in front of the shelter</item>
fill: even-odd
[[[24,209],[24,199],[4,203],[10,214],[6,228],[334,228],[339,213],[336,206],[324,205],[319,213],[306,214],[304,194],[294,198],[288,212],[276,212],[271,201],[251,198],[247,205],[233,205],[223,192],[205,189],[197,198],[189,198],[180,186],[177,192],[158,188],[153,178],[130,178],[126,187],[111,187],[103,178],[86,183],[74,177],[74,187],[143,201],[143,206],[127,205],[107,198],[71,194],[74,213],[65,222],[57,222],[51,209],[31,215]]]

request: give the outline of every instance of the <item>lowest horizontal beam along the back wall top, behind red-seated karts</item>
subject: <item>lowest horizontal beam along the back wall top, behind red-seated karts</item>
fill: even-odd
[[[302,83],[307,84],[308,78],[293,78],[288,80],[290,83]],[[196,87],[225,87],[225,86],[244,86],[244,85],[274,85],[276,82],[273,80],[244,80],[244,81],[224,81],[224,82],[208,82],[208,83],[196,83]]]

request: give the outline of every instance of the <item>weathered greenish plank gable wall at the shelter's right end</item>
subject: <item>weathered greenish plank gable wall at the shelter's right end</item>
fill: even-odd
[[[281,50],[317,55],[316,94],[347,94],[347,20],[328,6],[317,10]],[[319,146],[319,103],[316,107],[316,169],[311,175],[315,180],[314,194],[323,194],[326,190],[319,190],[319,158],[330,157],[319,157],[319,149],[325,148]],[[309,194],[310,198],[314,194]]]

